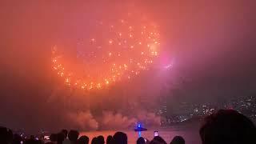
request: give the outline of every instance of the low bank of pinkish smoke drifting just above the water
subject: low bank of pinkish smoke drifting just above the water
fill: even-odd
[[[136,123],[142,122],[145,126],[160,126],[161,118],[154,113],[141,111],[138,115],[126,116],[113,111],[103,111],[97,120],[90,110],[66,114],[66,126],[77,130],[123,130],[131,129]],[[68,122],[68,123],[67,123]]]

